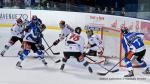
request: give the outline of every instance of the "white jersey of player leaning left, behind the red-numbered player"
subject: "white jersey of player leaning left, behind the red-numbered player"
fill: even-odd
[[[59,37],[60,37],[59,40],[62,41],[73,31],[74,31],[74,29],[71,28],[68,24],[66,24],[65,27],[61,30],[61,34],[59,35]]]

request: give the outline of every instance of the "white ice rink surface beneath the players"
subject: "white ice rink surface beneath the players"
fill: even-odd
[[[44,37],[49,43],[52,44],[58,38],[60,31],[46,30]],[[10,39],[10,29],[0,29],[0,51],[3,49],[4,44]],[[61,52],[64,48],[64,43],[52,49],[55,52]],[[127,74],[127,70],[119,68],[120,71],[116,73],[109,73],[106,76],[99,76],[97,72],[106,72],[103,68],[96,64],[92,64],[94,73],[90,74],[86,68],[79,64],[76,59],[70,58],[68,60],[64,71],[60,71],[60,63],[54,63],[49,57],[46,58],[48,66],[44,66],[38,59],[27,57],[22,63],[23,68],[17,69],[15,67],[18,61],[17,52],[19,51],[20,43],[16,43],[5,54],[6,57],[0,57],[0,84],[149,84],[150,75],[143,75],[142,69],[135,68],[135,77],[124,78],[123,75]],[[47,48],[47,47],[46,47]],[[62,54],[58,56],[52,55],[54,60],[61,59]],[[33,53],[30,55],[34,55]],[[29,55],[29,56],[30,56]],[[111,64],[102,65],[110,69],[118,60],[112,60]],[[148,63],[150,65],[150,62]]]

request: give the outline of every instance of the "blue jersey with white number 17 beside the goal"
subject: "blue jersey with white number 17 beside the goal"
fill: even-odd
[[[145,46],[143,38],[143,33],[129,32],[128,34],[124,34],[122,39],[122,45],[125,53],[128,53],[129,51],[136,53],[144,50]]]

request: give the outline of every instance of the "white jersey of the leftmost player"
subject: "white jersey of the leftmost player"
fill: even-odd
[[[14,24],[11,28],[11,35],[21,38],[24,35],[24,28],[22,25]]]

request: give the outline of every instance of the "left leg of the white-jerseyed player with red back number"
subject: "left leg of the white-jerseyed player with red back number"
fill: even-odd
[[[64,70],[64,67],[65,67],[67,60],[72,55],[71,52],[63,52],[63,54],[64,54],[64,57],[62,58],[62,64],[61,64],[60,70]]]

